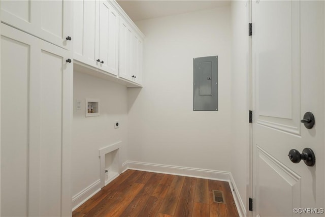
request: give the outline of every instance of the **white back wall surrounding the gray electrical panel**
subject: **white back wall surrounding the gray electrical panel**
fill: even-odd
[[[128,160],[230,171],[230,6],[139,21],[143,88],[128,91]],[[218,55],[219,111],[193,111],[193,57]]]

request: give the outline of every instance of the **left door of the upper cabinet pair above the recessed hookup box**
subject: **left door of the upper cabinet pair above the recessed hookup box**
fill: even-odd
[[[99,66],[99,2],[74,1],[74,59]]]

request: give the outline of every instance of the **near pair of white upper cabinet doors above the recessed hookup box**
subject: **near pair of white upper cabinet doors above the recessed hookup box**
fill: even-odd
[[[118,75],[118,13],[106,0],[73,4],[74,58]]]

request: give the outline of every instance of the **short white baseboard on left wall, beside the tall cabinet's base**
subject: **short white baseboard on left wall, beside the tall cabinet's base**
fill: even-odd
[[[89,198],[101,191],[100,187],[101,179],[96,180],[90,184],[87,188],[72,197],[72,211],[78,208],[81,204],[86,202]]]

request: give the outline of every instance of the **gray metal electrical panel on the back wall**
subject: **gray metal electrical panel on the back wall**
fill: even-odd
[[[218,111],[218,56],[193,58],[193,111]]]

